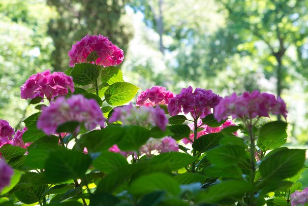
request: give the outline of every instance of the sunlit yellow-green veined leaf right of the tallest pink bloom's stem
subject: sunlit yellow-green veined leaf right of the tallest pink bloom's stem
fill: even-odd
[[[139,87],[128,82],[116,82],[112,84],[105,92],[107,103],[113,106],[128,103],[135,95]]]

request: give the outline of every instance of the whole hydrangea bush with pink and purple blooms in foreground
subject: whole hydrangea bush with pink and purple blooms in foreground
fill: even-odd
[[[123,51],[107,37],[87,35],[68,56],[65,73],[21,86],[37,109],[24,129],[0,120],[0,206],[307,203],[305,150],[283,147],[287,123],[273,121],[287,117],[279,97],[154,86],[134,106],[139,88],[114,67]]]

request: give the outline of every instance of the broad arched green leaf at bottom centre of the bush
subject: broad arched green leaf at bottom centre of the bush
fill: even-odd
[[[128,189],[133,195],[145,195],[162,190],[174,196],[181,192],[179,183],[169,175],[161,172],[140,176],[131,183]]]

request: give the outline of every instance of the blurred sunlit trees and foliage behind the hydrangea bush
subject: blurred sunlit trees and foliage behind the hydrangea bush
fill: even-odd
[[[143,90],[279,95],[289,142],[308,143],[308,0],[0,0],[0,118],[29,115],[20,86],[67,69],[87,34],[122,48],[124,76]]]

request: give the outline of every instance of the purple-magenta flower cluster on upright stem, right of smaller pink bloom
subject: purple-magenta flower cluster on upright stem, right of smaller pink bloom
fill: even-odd
[[[175,116],[180,112],[187,114],[190,112],[193,118],[204,118],[211,113],[222,98],[213,93],[212,90],[196,88],[192,92],[192,87],[183,88],[181,93],[169,99],[168,111],[170,116]]]

